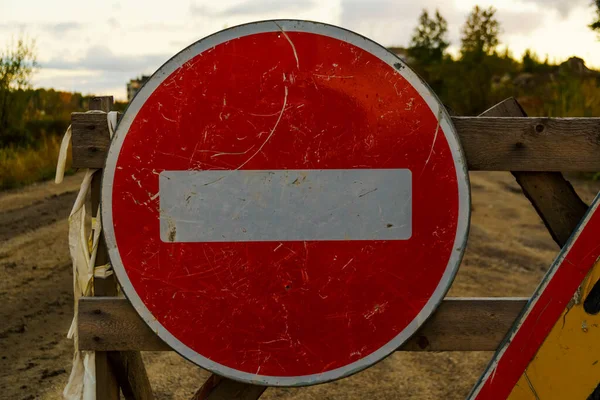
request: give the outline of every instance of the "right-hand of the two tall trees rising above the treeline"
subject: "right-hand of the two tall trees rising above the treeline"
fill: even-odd
[[[499,35],[500,22],[496,19],[496,9],[475,6],[462,29],[463,57],[467,54],[481,57],[494,53],[500,43]]]

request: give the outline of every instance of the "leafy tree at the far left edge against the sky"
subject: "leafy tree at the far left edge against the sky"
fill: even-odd
[[[31,86],[37,68],[35,41],[19,38],[0,52],[0,143],[13,141],[23,125],[27,100],[23,94]]]

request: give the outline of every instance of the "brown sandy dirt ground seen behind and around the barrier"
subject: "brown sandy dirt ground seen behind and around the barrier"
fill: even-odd
[[[59,399],[71,368],[66,217],[81,175],[0,193],[0,399]],[[529,296],[558,247],[508,173],[471,175],[473,217],[451,296]],[[575,180],[590,202],[597,182]],[[265,399],[463,399],[491,353],[396,353],[331,384]],[[144,353],[158,399],[186,399],[208,374],[174,353]]]

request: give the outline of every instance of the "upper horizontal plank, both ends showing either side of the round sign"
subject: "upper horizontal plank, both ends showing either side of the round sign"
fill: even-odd
[[[471,171],[600,171],[600,118],[488,115],[452,117]],[[73,113],[72,128],[73,167],[103,168],[106,118]]]

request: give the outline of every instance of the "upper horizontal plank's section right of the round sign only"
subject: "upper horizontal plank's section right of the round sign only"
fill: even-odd
[[[600,171],[599,118],[452,120],[472,171]]]

